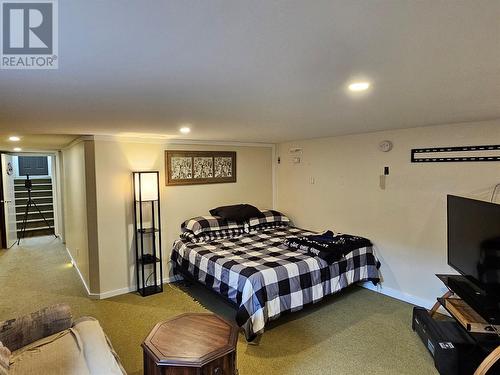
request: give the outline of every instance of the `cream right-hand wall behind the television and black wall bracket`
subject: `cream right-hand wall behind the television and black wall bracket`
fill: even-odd
[[[388,153],[381,140],[394,142]],[[500,163],[410,163],[410,149],[500,144],[500,121],[422,127],[279,145],[277,208],[300,227],[370,238],[382,262],[383,288],[420,303],[442,294],[434,276],[446,262],[446,195],[489,199]],[[290,148],[303,148],[293,164]],[[390,167],[386,189],[379,187]],[[311,184],[310,179],[315,183]]]

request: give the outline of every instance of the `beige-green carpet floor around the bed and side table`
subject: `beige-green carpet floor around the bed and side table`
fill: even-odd
[[[53,237],[0,250],[0,320],[65,302],[75,317],[98,318],[129,374],[142,374],[140,344],[158,321],[207,309],[234,318],[220,298],[195,285],[166,285],[147,298],[90,300],[64,246]],[[412,306],[353,287],[272,322],[258,346],[238,342],[240,374],[436,374],[411,330]]]

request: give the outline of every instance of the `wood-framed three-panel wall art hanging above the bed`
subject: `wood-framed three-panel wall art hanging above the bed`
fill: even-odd
[[[236,182],[236,152],[165,151],[166,185]]]

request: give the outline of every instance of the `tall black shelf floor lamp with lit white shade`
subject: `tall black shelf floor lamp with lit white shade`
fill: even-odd
[[[159,172],[133,172],[137,292],[163,292]]]

